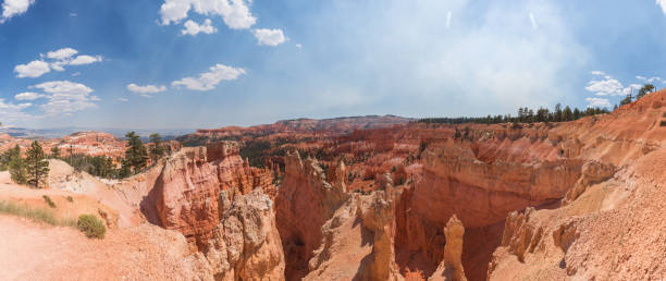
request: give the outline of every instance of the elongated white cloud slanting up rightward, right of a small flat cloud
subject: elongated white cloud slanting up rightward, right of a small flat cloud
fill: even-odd
[[[232,81],[245,74],[245,70],[240,68],[232,68],[223,64],[215,64],[210,68],[209,72],[199,74],[198,78],[185,77],[171,83],[174,87],[185,87],[192,90],[211,90],[214,89],[222,81]]]

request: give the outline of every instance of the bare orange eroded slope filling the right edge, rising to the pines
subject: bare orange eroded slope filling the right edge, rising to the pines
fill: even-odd
[[[666,273],[666,93],[553,130],[581,140],[583,175],[559,208],[511,212],[490,280],[638,280]],[[655,231],[656,230],[656,231]]]

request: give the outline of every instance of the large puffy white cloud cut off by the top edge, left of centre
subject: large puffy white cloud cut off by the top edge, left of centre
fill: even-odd
[[[247,29],[257,22],[249,11],[251,0],[165,0],[160,8],[162,24],[180,23],[192,9],[201,15],[220,15],[232,29]]]

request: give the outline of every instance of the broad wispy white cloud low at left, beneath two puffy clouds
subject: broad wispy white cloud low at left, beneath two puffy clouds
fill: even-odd
[[[92,89],[88,86],[69,81],[52,81],[30,86],[30,88],[40,88],[49,94],[46,97],[49,101],[41,105],[47,115],[71,114],[88,108],[97,108],[92,101],[99,100],[98,97],[90,96]]]

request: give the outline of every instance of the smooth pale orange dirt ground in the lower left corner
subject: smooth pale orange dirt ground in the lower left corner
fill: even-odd
[[[157,227],[90,240],[72,228],[0,215],[0,280],[192,280],[195,264],[182,235]]]

